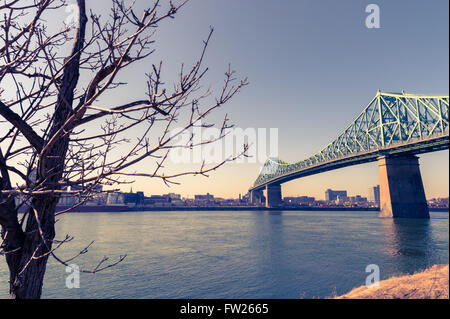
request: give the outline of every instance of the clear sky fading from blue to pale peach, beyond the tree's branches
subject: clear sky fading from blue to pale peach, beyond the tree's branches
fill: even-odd
[[[146,3],[137,1],[137,9]],[[379,29],[365,25],[371,3],[380,8]],[[88,4],[101,12],[110,1]],[[278,129],[279,158],[296,162],[335,139],[378,89],[448,95],[448,6],[447,0],[190,0],[175,19],[159,25],[148,64],[122,74],[135,81],[125,95],[143,94],[139,74],[159,60],[164,61],[165,79],[174,79],[181,63],[198,57],[213,26],[205,84],[220,89],[231,63],[249,85],[212,119],[220,122],[226,113],[241,129]],[[421,155],[420,163],[426,196],[448,197],[448,150]],[[261,165],[230,163],[208,178],[180,178],[181,184],[170,188],[160,180],[138,178],[132,187],[146,195],[209,192],[237,197],[247,192]],[[145,164],[136,170],[145,171]],[[317,199],[324,199],[327,188],[367,196],[368,188],[377,184],[377,163],[370,163],[291,181],[282,191],[283,196]]]

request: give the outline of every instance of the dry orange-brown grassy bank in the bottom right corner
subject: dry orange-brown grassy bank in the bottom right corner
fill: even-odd
[[[434,265],[413,275],[380,281],[378,288],[361,286],[336,299],[448,299],[449,265]]]

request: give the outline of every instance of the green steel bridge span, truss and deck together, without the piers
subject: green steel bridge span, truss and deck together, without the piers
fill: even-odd
[[[414,155],[448,148],[448,96],[378,91],[361,114],[318,153],[296,163],[268,159],[249,191],[373,162],[380,156]]]

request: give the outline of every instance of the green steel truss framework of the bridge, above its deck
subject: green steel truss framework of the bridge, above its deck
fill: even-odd
[[[397,146],[401,148],[414,142],[420,144],[421,141],[440,136],[447,136],[448,140],[448,109],[448,96],[378,91],[342,134],[317,154],[297,163],[268,159],[253,188],[320,163],[357,157],[358,154],[377,150],[395,149]]]

